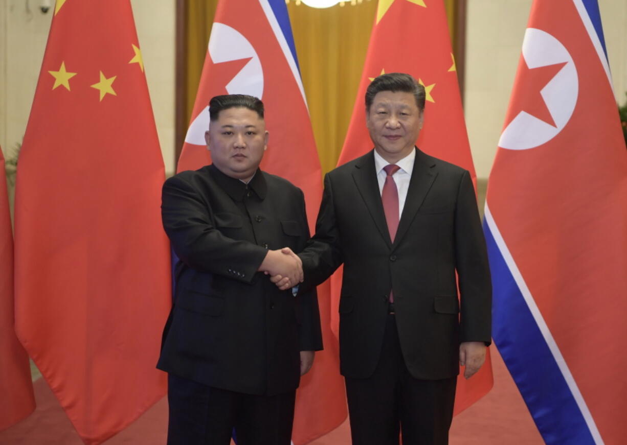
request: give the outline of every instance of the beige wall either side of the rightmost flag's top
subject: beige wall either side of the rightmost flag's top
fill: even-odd
[[[465,115],[477,176],[497,151],[532,0],[468,0]],[[627,2],[599,0],[616,99],[627,91]]]

